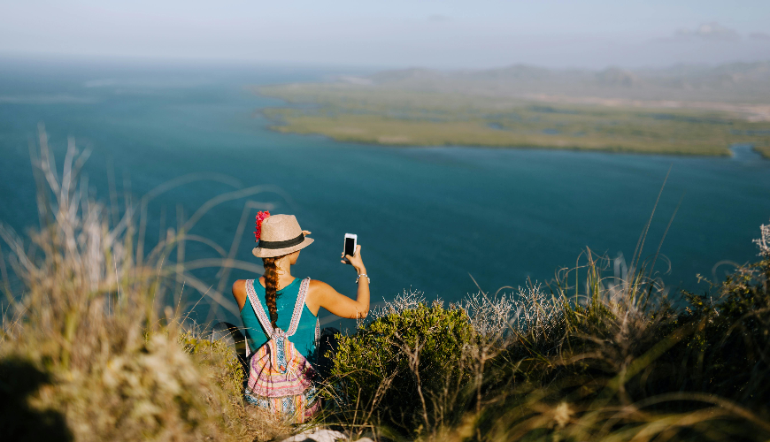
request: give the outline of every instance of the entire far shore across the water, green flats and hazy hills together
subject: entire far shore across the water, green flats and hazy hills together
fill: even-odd
[[[291,104],[263,110],[273,129],[336,141],[709,156],[751,143],[770,157],[770,68],[734,71],[688,72],[682,80],[618,69],[412,69],[257,90]]]

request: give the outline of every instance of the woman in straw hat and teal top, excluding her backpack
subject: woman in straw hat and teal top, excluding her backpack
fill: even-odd
[[[266,331],[260,324],[251,302],[248,302],[248,294],[253,290],[252,297],[256,297],[262,309],[266,308],[269,312],[273,329],[277,327],[288,331],[297,296],[303,286],[302,279],[292,276],[291,265],[296,263],[299,251],[312,244],[312,239],[305,237],[308,234],[310,232],[299,227],[294,215],[270,216],[268,212],[259,212],[257,216],[255,235],[258,246],[252,253],[262,258],[265,274],[251,283],[251,280],[239,279],[233,285],[233,296],[241,310],[251,353],[270,339],[270,331]],[[323,356],[317,352],[316,328],[320,308],[346,318],[363,318],[369,312],[369,277],[366,276],[366,267],[361,260],[361,246],[356,248],[355,255],[343,255],[343,258],[342,262],[350,263],[358,273],[356,300],[337,293],[324,282],[311,279],[296,332],[289,338],[296,349],[312,363],[317,363],[319,356]]]

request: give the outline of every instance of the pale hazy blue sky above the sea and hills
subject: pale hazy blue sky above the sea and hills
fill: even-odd
[[[770,0],[0,0],[0,55],[481,69],[770,59]]]

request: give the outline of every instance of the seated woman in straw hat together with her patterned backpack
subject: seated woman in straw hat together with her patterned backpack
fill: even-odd
[[[300,249],[312,244],[312,239],[306,238],[310,232],[302,230],[293,215],[271,217],[269,212],[258,212],[256,219],[254,237],[258,246],[251,253],[262,258],[264,276],[258,280],[239,279],[233,284],[233,296],[241,309],[250,349],[256,350],[250,358],[244,397],[258,407],[293,415],[297,423],[304,423],[320,407],[318,390],[313,385],[317,372],[308,363],[318,361],[319,309],[337,316],[366,317],[369,277],[358,246],[354,255],[342,256],[342,262],[352,264],[358,273],[355,301],[321,281],[305,284],[291,276],[291,266],[296,263]],[[293,331],[292,316],[296,314],[296,331],[287,340],[286,332]],[[284,332],[273,333],[275,328]],[[269,339],[266,331],[273,339]]]

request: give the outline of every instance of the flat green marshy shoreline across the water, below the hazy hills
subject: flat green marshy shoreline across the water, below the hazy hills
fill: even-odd
[[[257,88],[289,105],[262,110],[281,133],[385,147],[466,146],[732,156],[737,143],[770,158],[770,122],[725,112],[564,105],[328,84]]]

